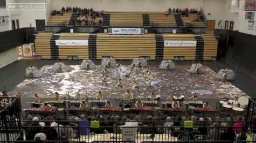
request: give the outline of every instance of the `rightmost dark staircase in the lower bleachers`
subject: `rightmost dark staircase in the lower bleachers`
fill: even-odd
[[[204,39],[200,35],[195,35],[196,44],[196,59],[202,60],[204,58]]]

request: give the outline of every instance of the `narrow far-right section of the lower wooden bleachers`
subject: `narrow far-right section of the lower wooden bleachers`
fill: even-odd
[[[218,41],[213,34],[202,34],[204,39],[204,60],[211,60],[211,57],[217,57]]]

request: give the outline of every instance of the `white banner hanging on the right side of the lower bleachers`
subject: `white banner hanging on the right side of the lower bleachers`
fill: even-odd
[[[196,47],[196,41],[164,40],[164,46],[167,46],[167,47]]]

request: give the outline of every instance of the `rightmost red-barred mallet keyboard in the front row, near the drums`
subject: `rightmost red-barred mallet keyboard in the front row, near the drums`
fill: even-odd
[[[193,114],[197,114],[200,116],[206,116],[206,117],[216,117],[216,110],[213,108],[200,108],[200,107],[196,107],[195,109],[193,109]]]

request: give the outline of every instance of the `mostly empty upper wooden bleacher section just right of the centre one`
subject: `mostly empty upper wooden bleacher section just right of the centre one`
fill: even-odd
[[[176,26],[174,14],[165,16],[165,12],[147,12],[149,14],[150,23],[159,26]]]

